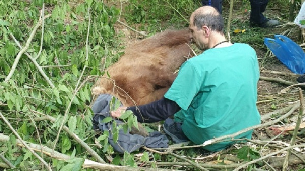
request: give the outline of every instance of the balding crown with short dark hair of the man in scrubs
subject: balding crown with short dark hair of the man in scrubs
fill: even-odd
[[[206,25],[212,31],[218,31],[223,34],[223,18],[221,14],[211,6],[202,6],[195,10],[190,17],[190,24],[197,27],[198,30]]]

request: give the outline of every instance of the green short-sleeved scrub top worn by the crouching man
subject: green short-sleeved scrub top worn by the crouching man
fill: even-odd
[[[247,44],[204,51],[182,64],[165,98],[181,110],[175,121],[182,122],[184,134],[194,143],[235,133],[260,124],[256,107],[259,66],[255,50]],[[248,131],[235,138],[251,138]],[[234,142],[203,147],[219,151]]]

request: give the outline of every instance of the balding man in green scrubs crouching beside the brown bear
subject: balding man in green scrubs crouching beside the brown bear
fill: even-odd
[[[260,124],[256,107],[259,66],[256,52],[247,44],[229,43],[223,33],[221,14],[203,6],[190,17],[190,38],[205,50],[182,64],[178,76],[161,100],[112,112],[131,110],[139,122],[166,119],[164,130],[176,143],[202,144],[219,136]],[[236,138],[248,138],[252,132]],[[219,151],[234,142],[204,146]]]

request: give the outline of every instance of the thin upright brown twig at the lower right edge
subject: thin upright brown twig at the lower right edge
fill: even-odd
[[[290,146],[293,146],[295,144],[296,136],[297,136],[297,133],[298,133],[298,130],[299,130],[299,127],[300,127],[300,123],[302,121],[302,116],[303,116],[303,111],[304,111],[303,92],[302,92],[301,88],[298,88],[298,89],[299,89],[299,96],[300,96],[301,105],[300,105],[300,111],[299,111],[299,115],[298,115],[298,118],[297,118],[297,122],[296,122],[294,131],[293,131],[293,134],[292,134],[292,138],[291,138],[291,141],[290,141]],[[286,171],[286,169],[288,167],[288,158],[290,156],[290,153],[291,153],[291,149],[288,149],[285,160],[284,160],[284,163],[283,163],[283,169],[282,169],[283,171]]]

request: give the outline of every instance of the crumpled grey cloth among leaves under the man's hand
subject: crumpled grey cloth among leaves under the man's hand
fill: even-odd
[[[105,117],[110,116],[110,101],[113,98],[110,94],[101,94],[94,102],[92,110],[94,112],[93,128],[104,130],[110,130],[112,122],[102,123]],[[117,100],[117,99],[115,99]],[[121,106],[121,104],[120,104]],[[123,124],[123,121],[115,119],[117,125]],[[166,135],[161,132],[155,131],[149,133],[149,136],[144,137],[138,134],[130,134],[129,131],[124,133],[123,129],[119,130],[117,143],[113,141],[113,134],[109,131],[108,143],[112,145],[116,152],[123,153],[124,151],[130,153],[138,150],[140,147],[145,146],[148,148],[167,148],[168,139]]]

